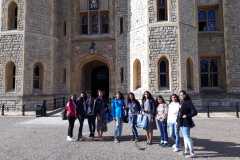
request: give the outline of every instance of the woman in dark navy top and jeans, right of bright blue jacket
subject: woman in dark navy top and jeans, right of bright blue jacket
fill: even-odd
[[[127,106],[129,124],[132,127],[133,138],[132,141],[137,142],[139,140],[138,131],[137,131],[137,115],[141,111],[141,105],[138,100],[136,100],[134,93],[128,93],[127,97]]]

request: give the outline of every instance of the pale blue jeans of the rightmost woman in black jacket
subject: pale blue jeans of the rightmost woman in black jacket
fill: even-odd
[[[183,135],[183,141],[184,141],[184,148],[185,151],[189,149],[190,153],[193,153],[193,144],[192,139],[190,137],[190,128],[189,127],[180,127],[182,135]]]

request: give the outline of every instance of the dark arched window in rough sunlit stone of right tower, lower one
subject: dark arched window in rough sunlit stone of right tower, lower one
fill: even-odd
[[[159,61],[159,88],[169,88],[169,63],[165,57]]]

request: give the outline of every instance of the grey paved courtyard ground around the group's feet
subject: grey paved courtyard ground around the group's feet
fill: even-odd
[[[76,121],[77,122],[77,121]],[[197,157],[201,160],[240,160],[240,120],[235,118],[197,118],[192,130]],[[78,122],[75,128],[77,135]],[[67,121],[60,117],[0,117],[0,160],[181,160],[182,153],[161,148],[159,132],[146,146],[129,141],[130,129],[124,125],[120,144],[111,141],[112,124],[105,141],[66,142]],[[142,134],[144,132],[141,132]],[[87,126],[84,135],[88,136]]]

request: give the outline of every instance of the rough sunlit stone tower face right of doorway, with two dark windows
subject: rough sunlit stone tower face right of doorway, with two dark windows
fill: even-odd
[[[157,22],[157,1],[149,0],[149,88],[154,94],[176,92],[179,88],[177,1],[168,1],[168,21]],[[159,87],[159,60],[169,62],[169,88]]]

